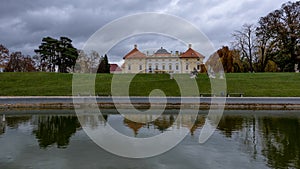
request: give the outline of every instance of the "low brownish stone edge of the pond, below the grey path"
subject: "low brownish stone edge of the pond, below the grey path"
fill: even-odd
[[[0,111],[5,111],[7,109],[74,109],[74,108],[81,108],[81,107],[89,107],[91,105],[86,103],[73,103],[72,96],[22,96],[22,97],[3,97],[0,96]],[[102,99],[109,99],[111,97],[101,97]],[[122,98],[122,97],[121,97]],[[134,97],[135,99],[138,98],[145,98],[145,97]],[[177,98],[177,97],[168,97],[168,98]],[[186,97],[188,98],[188,97]],[[202,97],[201,97],[202,98]],[[200,98],[200,99],[201,99]],[[212,97],[213,98],[213,97]],[[212,98],[205,98],[205,99],[212,99]],[[5,100],[8,99],[10,101],[16,101],[15,103],[5,103]],[[28,102],[24,103],[24,100],[26,99],[34,99],[34,102]],[[43,99],[53,99],[51,102],[45,102]],[[61,99],[67,99],[64,102],[55,102],[55,100],[61,100]],[[223,98],[224,99],[224,98]],[[229,99],[229,98],[226,98]],[[300,97],[232,97],[230,98],[231,101],[228,103],[225,103],[225,109],[226,110],[300,110]],[[246,102],[246,100],[261,100],[262,102]],[[280,101],[276,101],[276,103],[272,103],[273,99],[282,100],[282,103]],[[288,100],[295,100],[293,103],[288,103]],[[4,101],[2,101],[4,100]],[[23,100],[23,103],[20,103],[18,101]],[[236,103],[234,100],[238,100]],[[245,100],[245,102],[243,102]],[[241,103],[242,102],[242,103]],[[103,109],[112,109],[115,108],[115,105],[113,102],[98,102],[97,103],[99,108]],[[133,103],[135,108],[139,109],[147,109],[149,108],[149,103]],[[130,108],[128,106],[128,103],[119,104],[122,108]],[[164,105],[160,103],[154,103],[152,104],[152,108],[161,109],[164,108]],[[211,104],[210,102],[200,102],[200,103],[167,103],[166,109],[200,109],[207,110],[213,107],[216,107],[218,105]]]

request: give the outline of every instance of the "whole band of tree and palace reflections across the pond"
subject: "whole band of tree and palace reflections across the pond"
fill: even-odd
[[[145,133],[150,130],[155,130],[155,134],[159,134],[172,129],[172,127],[189,128],[190,135],[193,136],[200,133],[206,115],[126,114],[123,117],[116,114],[104,116],[86,114],[78,118],[75,115],[10,115],[6,116],[5,120],[3,117],[4,115],[0,115],[0,148],[3,138],[9,137],[6,133],[19,130],[21,126],[23,128],[28,126],[32,129],[31,134],[38,141],[39,147],[45,149],[52,145],[56,145],[57,148],[68,148],[72,136],[81,130],[79,120],[84,122],[83,125],[97,129],[99,125],[105,127],[107,123],[112,123],[117,117],[121,120],[120,123],[114,124],[115,127],[127,129],[132,133],[125,132],[125,134],[135,137],[149,136]],[[139,121],[149,122],[140,123]],[[299,115],[261,115],[259,113],[224,115],[216,133],[221,134],[223,138],[213,138],[209,141],[227,146],[225,140],[229,140],[239,147],[240,152],[237,154],[242,152],[249,155],[249,161],[260,160],[266,166],[274,169],[300,168]],[[194,150],[190,151],[198,151],[200,145],[197,143],[194,145]],[[218,153],[222,153],[222,150]]]

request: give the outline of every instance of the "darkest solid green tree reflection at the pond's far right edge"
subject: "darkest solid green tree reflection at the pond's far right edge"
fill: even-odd
[[[273,168],[300,168],[300,119],[264,117],[262,153]]]

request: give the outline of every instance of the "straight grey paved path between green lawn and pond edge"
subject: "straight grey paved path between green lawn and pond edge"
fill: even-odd
[[[76,97],[77,101],[85,102],[95,99],[95,97]],[[117,102],[128,103],[126,97],[115,97]],[[224,101],[227,104],[300,104],[300,97],[168,97],[170,104],[181,103],[211,103],[211,99]],[[98,103],[113,103],[111,97],[96,97]],[[153,103],[162,103],[165,98],[155,97],[150,99]],[[148,97],[130,97],[131,103],[149,103]],[[38,104],[38,103],[72,103],[73,97],[69,96],[33,96],[33,97],[0,97],[0,104]]]

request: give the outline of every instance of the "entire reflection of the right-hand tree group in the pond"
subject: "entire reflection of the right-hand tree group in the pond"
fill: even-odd
[[[224,116],[218,129],[253,159],[262,154],[272,168],[300,168],[299,116]]]

